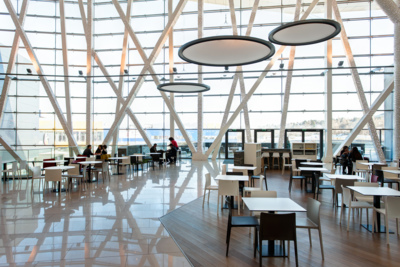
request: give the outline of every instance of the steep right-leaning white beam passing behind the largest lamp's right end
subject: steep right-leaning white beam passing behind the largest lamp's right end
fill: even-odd
[[[256,14],[257,14],[259,3],[260,3],[260,0],[255,0],[254,1],[253,8],[252,8],[251,14],[250,14],[249,23],[247,24],[248,26],[247,26],[247,30],[246,30],[246,36],[250,36],[251,31],[253,29],[253,24],[254,24],[254,20],[256,18]],[[242,70],[241,67],[240,68],[239,67],[236,68],[236,72],[240,72],[241,70]],[[237,85],[237,82],[238,82],[238,77],[239,77],[238,74],[235,74],[234,77],[233,77],[231,91],[230,91],[229,96],[228,96],[228,102],[226,103],[225,112],[224,112],[224,116],[222,118],[221,126],[223,126],[226,123],[226,121],[228,120],[228,115],[229,115],[229,111],[231,110],[232,100],[233,100],[233,96],[235,94],[236,85]],[[244,96],[242,96],[242,98],[243,97]],[[217,158],[220,147],[221,147],[221,143],[219,143],[217,148],[214,149],[213,156],[212,156],[213,160],[215,160]]]

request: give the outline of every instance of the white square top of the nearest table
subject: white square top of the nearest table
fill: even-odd
[[[290,198],[244,197],[242,200],[250,211],[306,211],[305,208]]]

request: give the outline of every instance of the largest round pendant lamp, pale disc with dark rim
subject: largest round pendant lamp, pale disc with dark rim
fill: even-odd
[[[257,63],[275,53],[273,44],[248,36],[224,35],[200,38],[181,46],[179,57],[204,66],[227,67]]]

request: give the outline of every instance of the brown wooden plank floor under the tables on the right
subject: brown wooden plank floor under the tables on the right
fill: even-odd
[[[303,207],[306,207],[307,198],[312,197],[300,189],[298,181],[294,182],[289,195],[288,171],[283,177],[279,171],[270,171],[267,177],[269,190],[278,191],[278,197],[291,197]],[[350,219],[347,232],[346,221],[339,224],[340,208],[333,208],[331,196],[329,190],[323,192],[322,198],[320,196],[325,260],[321,259],[318,232],[312,231],[313,246],[310,247],[307,230],[298,230],[299,266],[400,266],[400,237],[391,234],[388,247],[385,234],[372,234],[359,225],[358,214],[354,221],[353,217]],[[194,266],[258,266],[258,255],[253,258],[253,239],[248,228],[232,229],[229,257],[225,257],[228,211],[223,210],[217,215],[216,200],[216,192],[213,192],[204,209],[202,198],[199,198],[160,220]],[[347,209],[345,212],[347,214]],[[305,214],[297,213],[296,216]],[[390,225],[395,230],[394,220]],[[263,266],[295,266],[293,246],[291,250],[290,258],[263,258]]]

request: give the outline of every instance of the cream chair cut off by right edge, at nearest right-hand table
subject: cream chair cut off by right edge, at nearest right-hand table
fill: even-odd
[[[389,219],[396,219],[396,233],[399,235],[399,218],[400,218],[400,198],[399,197],[385,197],[385,208],[377,209],[374,208],[374,215],[372,216],[373,224],[376,226],[376,212],[381,213],[385,216],[385,227],[386,227],[386,244],[389,245]],[[374,230],[375,232],[375,230]]]

